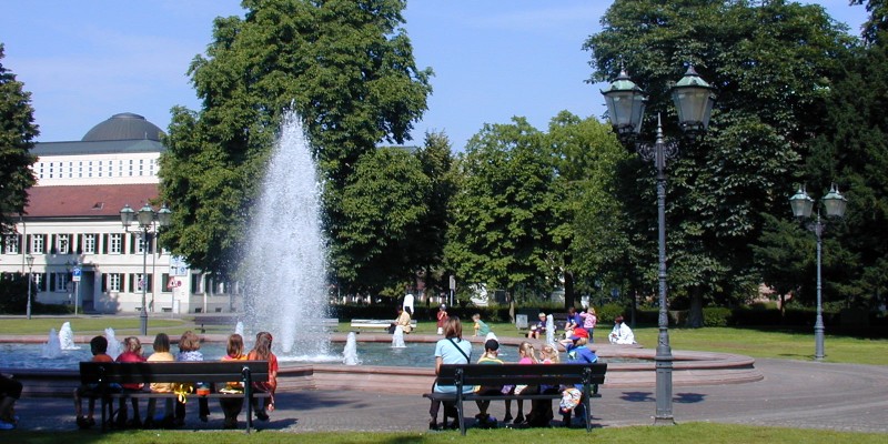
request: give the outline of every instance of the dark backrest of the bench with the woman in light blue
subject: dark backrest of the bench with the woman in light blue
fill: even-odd
[[[443,364],[440,385],[603,384],[607,364]]]

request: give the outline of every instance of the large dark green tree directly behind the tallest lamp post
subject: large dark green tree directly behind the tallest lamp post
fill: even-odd
[[[783,0],[616,0],[602,24],[585,43],[592,80],[629,71],[649,94],[646,139],[658,113],[667,133],[677,133],[668,89],[686,63],[718,90],[708,134],[667,164],[669,286],[699,326],[706,300],[754,294],[749,245],[764,213],[786,213],[787,190],[823,130],[826,90],[854,39],[821,7]],[[628,162],[646,171],[620,188],[635,219],[628,238],[647,239],[646,261],[655,263],[653,164]]]

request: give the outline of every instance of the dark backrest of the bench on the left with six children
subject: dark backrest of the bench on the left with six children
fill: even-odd
[[[244,367],[250,369],[253,382],[269,381],[268,361],[81,362],[80,381],[84,384],[230,382],[242,381]]]

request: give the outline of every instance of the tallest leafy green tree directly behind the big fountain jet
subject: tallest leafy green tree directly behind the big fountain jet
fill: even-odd
[[[403,0],[242,4],[245,17],[218,18],[206,56],[192,62],[202,107],[173,109],[161,158],[162,196],[175,212],[164,241],[192,265],[223,275],[236,270],[284,110],[305,123],[327,182],[327,232],[343,244],[342,199],[359,160],[379,142],[407,140],[431,92],[431,70],[415,67],[401,27]]]

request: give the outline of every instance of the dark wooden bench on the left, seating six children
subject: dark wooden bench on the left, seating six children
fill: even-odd
[[[241,381],[244,393],[211,393],[208,395],[191,394],[198,397],[243,397],[246,405],[246,433],[253,426],[252,397],[269,397],[269,393],[253,392],[252,383],[269,381],[268,361],[202,361],[202,362],[81,362],[80,382],[94,384],[95,389],[84,394],[102,400],[102,431],[107,421],[113,417],[112,400],[120,398],[170,398],[174,393],[119,392],[112,384],[148,384],[150,383],[225,383]]]

